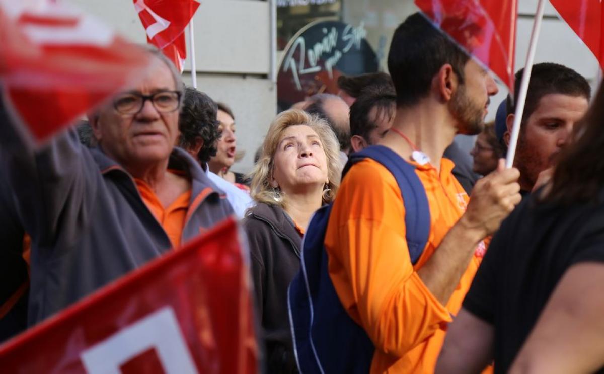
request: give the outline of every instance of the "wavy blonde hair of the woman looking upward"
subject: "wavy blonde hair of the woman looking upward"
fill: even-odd
[[[285,202],[281,196],[281,192],[271,186],[271,176],[274,168],[273,157],[277,152],[277,146],[281,139],[283,131],[291,126],[304,124],[319,135],[321,145],[327,158],[327,178],[329,182],[323,193],[323,203],[329,204],[333,201],[338,191],[340,174],[342,172],[342,162],[339,156],[339,143],[336,135],[329,124],[320,118],[307,114],[300,109],[289,109],[289,111],[281,112],[272,121],[268,129],[260,158],[254,166],[254,170],[250,173],[251,196],[257,202],[277,205],[285,208]]]

